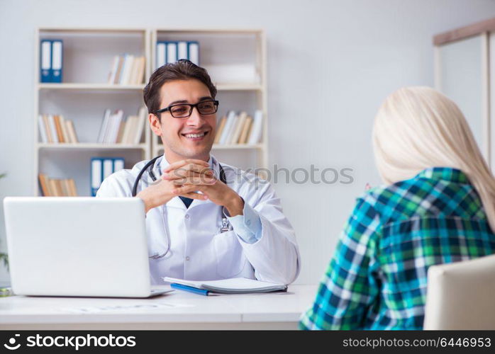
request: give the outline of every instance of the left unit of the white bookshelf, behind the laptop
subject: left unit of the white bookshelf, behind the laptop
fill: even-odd
[[[40,40],[62,39],[62,83],[40,82]],[[122,109],[136,115],[144,105],[142,84],[108,84],[113,57],[125,53],[145,56],[145,79],[150,76],[150,30],[99,28],[38,28],[35,33],[35,195],[40,195],[38,174],[74,178],[79,195],[91,195],[91,157],[123,157],[126,168],[149,159],[150,131],[140,144],[97,143],[104,110]],[[38,115],[63,115],[72,120],[79,143],[43,143]]]

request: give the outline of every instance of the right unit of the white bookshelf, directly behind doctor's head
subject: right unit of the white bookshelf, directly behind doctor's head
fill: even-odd
[[[156,43],[162,40],[195,40],[199,42],[199,65],[205,67],[218,91],[217,118],[228,110],[246,111],[253,115],[262,110],[262,141],[258,144],[214,144],[212,153],[223,162],[242,168],[267,167],[267,61],[266,40],[263,30],[257,29],[180,29],[159,28],[151,33],[151,65],[156,68]],[[226,77],[219,79],[215,72],[231,64],[250,64],[257,78],[250,82],[236,82]],[[152,134],[152,155],[163,154],[160,137]]]

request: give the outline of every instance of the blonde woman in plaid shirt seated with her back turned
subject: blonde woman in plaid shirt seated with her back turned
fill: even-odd
[[[495,180],[457,105],[392,93],[373,130],[386,186],[357,199],[301,329],[422,329],[430,265],[495,253]]]

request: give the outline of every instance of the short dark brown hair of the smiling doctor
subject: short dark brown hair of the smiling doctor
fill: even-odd
[[[180,59],[178,62],[165,64],[153,72],[150,76],[150,82],[143,90],[145,105],[148,107],[148,113],[155,113],[160,108],[161,98],[160,89],[163,84],[174,80],[196,79],[208,87],[211,98],[216,96],[216,87],[211,82],[210,76],[206,69],[198,67],[187,59]],[[160,118],[160,117],[159,117]]]

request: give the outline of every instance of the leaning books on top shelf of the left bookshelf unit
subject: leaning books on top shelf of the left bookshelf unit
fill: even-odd
[[[134,55],[116,55],[113,57],[109,74],[109,84],[143,84],[145,76],[145,57]]]

